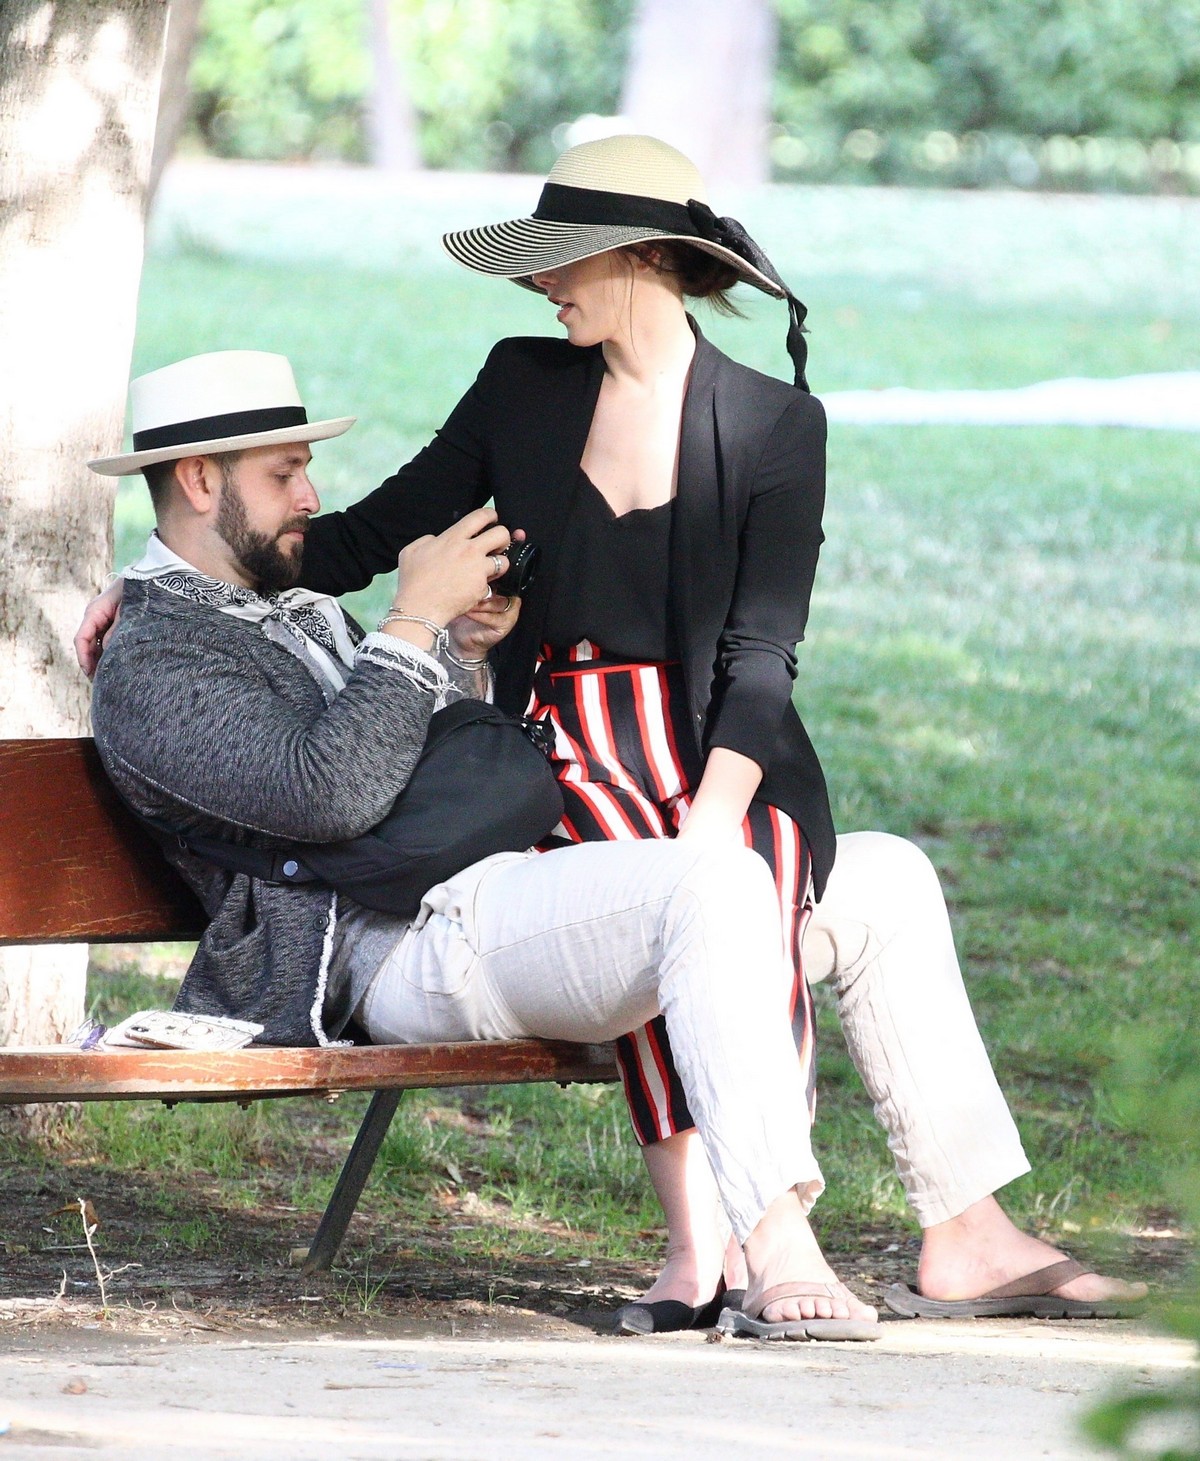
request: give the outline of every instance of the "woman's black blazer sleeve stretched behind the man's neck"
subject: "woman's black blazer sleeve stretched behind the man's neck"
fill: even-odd
[[[475,383],[434,440],[360,503],[308,524],[300,581],[319,593],[352,593],[396,567],[414,538],[437,535],[491,497],[491,383],[503,362],[495,345]]]

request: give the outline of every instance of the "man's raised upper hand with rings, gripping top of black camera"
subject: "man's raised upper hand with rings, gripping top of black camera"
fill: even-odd
[[[393,609],[443,627],[471,612],[488,593],[488,580],[507,571],[510,542],[509,529],[490,507],[466,513],[437,538],[415,539],[400,552]],[[402,638],[414,628],[419,625],[387,625]]]

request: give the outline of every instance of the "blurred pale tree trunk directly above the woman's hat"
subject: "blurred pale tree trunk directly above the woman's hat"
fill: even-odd
[[[639,0],[621,112],[710,183],[763,183],[776,45],[773,0]]]

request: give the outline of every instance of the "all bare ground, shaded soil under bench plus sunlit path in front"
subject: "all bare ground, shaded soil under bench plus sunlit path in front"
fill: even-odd
[[[471,1194],[419,1233],[360,1214],[339,1265],[313,1277],[289,1259],[314,1218],[269,1182],[259,1207],[231,1208],[205,1179],[174,1179],[171,1217],[151,1220],[159,1183],[89,1164],[102,1311],[70,1210],[83,1178],[53,1163],[4,1176],[0,1461],[1082,1461],[1092,1397],[1193,1363],[1144,1321],[890,1321],[871,1346],[621,1340],[608,1315],[646,1270],[503,1245],[463,1259],[456,1235],[495,1216]],[[216,1246],[172,1240],[189,1214]],[[887,1232],[836,1255],[876,1299],[915,1261]],[[1185,1261],[1181,1239],[1149,1232],[1123,1271],[1169,1286]]]

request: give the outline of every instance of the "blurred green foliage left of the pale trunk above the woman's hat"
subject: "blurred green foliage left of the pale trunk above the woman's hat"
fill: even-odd
[[[633,0],[393,0],[431,167],[544,171],[555,126],[611,112]],[[364,0],[206,0],[193,120],[238,158],[362,161]]]

